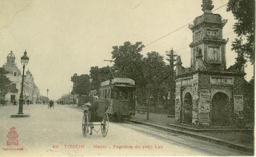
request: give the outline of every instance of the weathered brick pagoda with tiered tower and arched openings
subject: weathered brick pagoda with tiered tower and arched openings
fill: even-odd
[[[226,68],[226,43],[222,29],[227,23],[213,14],[212,0],[203,0],[203,15],[192,30],[191,67],[182,67],[177,57],[175,121],[190,125],[244,125],[244,69]]]

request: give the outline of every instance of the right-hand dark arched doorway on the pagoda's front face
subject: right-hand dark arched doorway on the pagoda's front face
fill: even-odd
[[[229,126],[229,98],[225,93],[217,92],[212,100],[212,125]]]

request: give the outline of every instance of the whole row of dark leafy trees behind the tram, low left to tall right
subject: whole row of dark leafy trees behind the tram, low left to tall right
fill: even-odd
[[[141,105],[150,102],[150,100],[152,101],[148,105],[156,105],[163,100],[163,96],[167,97],[170,69],[164,62],[164,56],[158,52],[148,52],[144,57],[140,53],[144,48],[142,42],[132,44],[127,41],[124,45],[113,46],[112,48],[111,53],[114,59],[112,67],[99,68],[94,66],[90,68],[89,75],[77,76],[74,74],[71,77],[75,93],[82,93],[81,91],[86,93],[88,88],[90,90],[98,89],[101,82],[113,79],[114,75],[114,77],[131,78],[135,81],[137,102]],[[86,77],[82,79],[82,76]],[[92,79],[90,85],[87,84],[89,76]],[[78,82],[86,82],[86,84],[83,84],[84,87],[77,87]]]

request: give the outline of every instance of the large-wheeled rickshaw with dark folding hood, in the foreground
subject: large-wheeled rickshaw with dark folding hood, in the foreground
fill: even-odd
[[[106,99],[98,99],[92,103],[89,107],[85,108],[84,117],[82,122],[82,131],[83,136],[85,137],[89,127],[93,128],[94,126],[101,126],[98,130],[94,130],[95,132],[99,132],[101,130],[102,136],[107,136],[108,131],[108,116],[106,113],[108,107],[108,101]]]

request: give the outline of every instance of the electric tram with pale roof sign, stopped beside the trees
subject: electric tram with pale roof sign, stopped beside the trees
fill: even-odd
[[[130,78],[113,78],[101,83],[101,87],[89,93],[90,103],[93,96],[108,100],[107,114],[110,120],[122,121],[135,116],[135,81]]]

